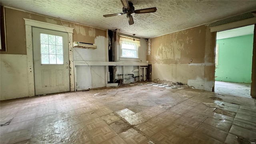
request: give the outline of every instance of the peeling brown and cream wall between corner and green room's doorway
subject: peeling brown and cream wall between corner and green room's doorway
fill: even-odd
[[[151,38],[152,80],[181,82],[189,87],[209,90],[214,86],[214,48],[216,33],[198,26]],[[191,62],[192,60],[192,62]]]

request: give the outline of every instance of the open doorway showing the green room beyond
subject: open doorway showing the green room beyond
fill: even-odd
[[[254,25],[217,32],[215,92],[252,98]]]

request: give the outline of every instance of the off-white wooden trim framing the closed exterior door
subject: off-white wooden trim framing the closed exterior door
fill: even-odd
[[[49,24],[36,20],[25,20],[26,30],[26,48],[27,48],[27,62],[28,62],[28,96],[35,95],[34,83],[34,64],[33,64],[33,44],[32,44],[32,26],[37,28],[45,28],[48,30],[56,30],[60,32],[68,32],[68,52],[69,52],[69,66],[70,66],[70,91],[74,91],[74,59],[73,59],[73,30],[66,26],[59,26],[56,24]]]

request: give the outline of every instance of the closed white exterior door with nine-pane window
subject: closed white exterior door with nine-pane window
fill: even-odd
[[[70,91],[68,33],[32,27],[35,95]]]

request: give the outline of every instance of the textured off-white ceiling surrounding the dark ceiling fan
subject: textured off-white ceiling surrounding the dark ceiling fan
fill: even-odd
[[[152,38],[237,14],[256,10],[256,0],[130,0],[135,10],[156,7],[155,13],[132,14],[134,24],[129,25],[126,15],[104,18],[104,14],[122,12],[120,0],[1,0],[11,6],[62,18],[72,22],[103,29]]]

